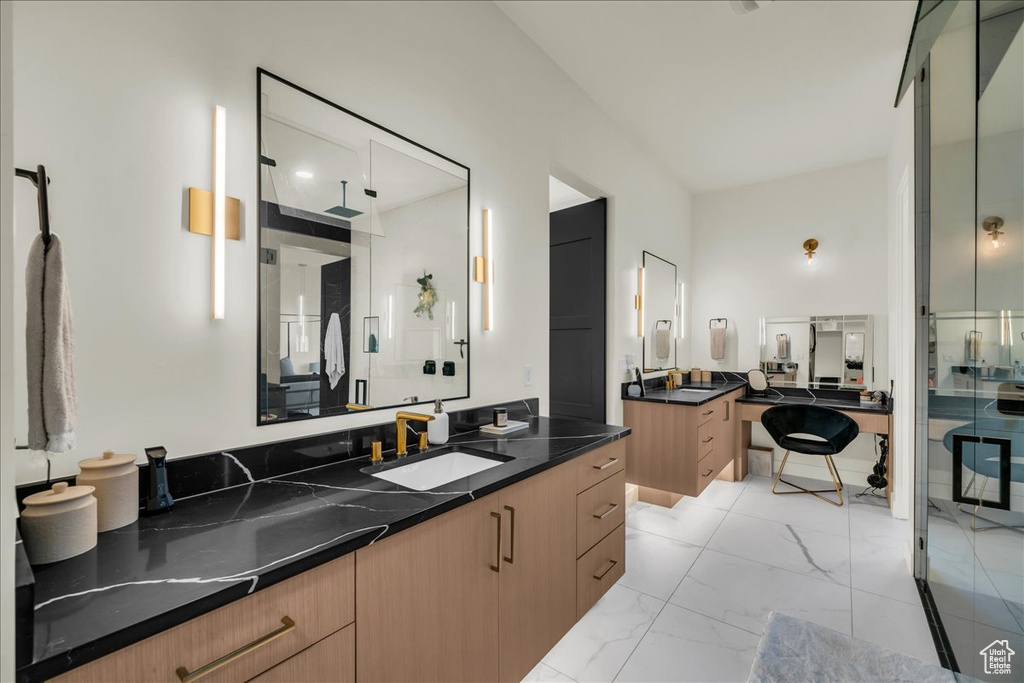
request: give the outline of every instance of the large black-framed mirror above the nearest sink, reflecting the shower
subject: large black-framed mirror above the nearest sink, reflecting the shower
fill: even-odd
[[[258,82],[258,423],[467,397],[469,169]]]

